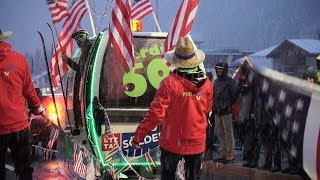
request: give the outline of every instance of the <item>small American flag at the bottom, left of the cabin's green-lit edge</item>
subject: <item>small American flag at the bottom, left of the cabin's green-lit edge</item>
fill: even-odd
[[[74,143],[73,151],[73,171],[78,173],[82,178],[85,178],[87,175],[87,167],[90,160],[90,152],[87,149],[78,146],[77,143]]]

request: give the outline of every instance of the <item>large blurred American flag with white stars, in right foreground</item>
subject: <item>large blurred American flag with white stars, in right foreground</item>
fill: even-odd
[[[279,128],[284,147],[311,179],[320,179],[320,86],[282,73],[241,65],[256,98]]]

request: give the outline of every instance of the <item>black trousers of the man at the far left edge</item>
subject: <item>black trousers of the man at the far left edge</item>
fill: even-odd
[[[18,179],[32,179],[31,165],[32,136],[29,128],[21,131],[0,135],[0,179],[6,177],[6,152],[11,150],[14,171]]]

